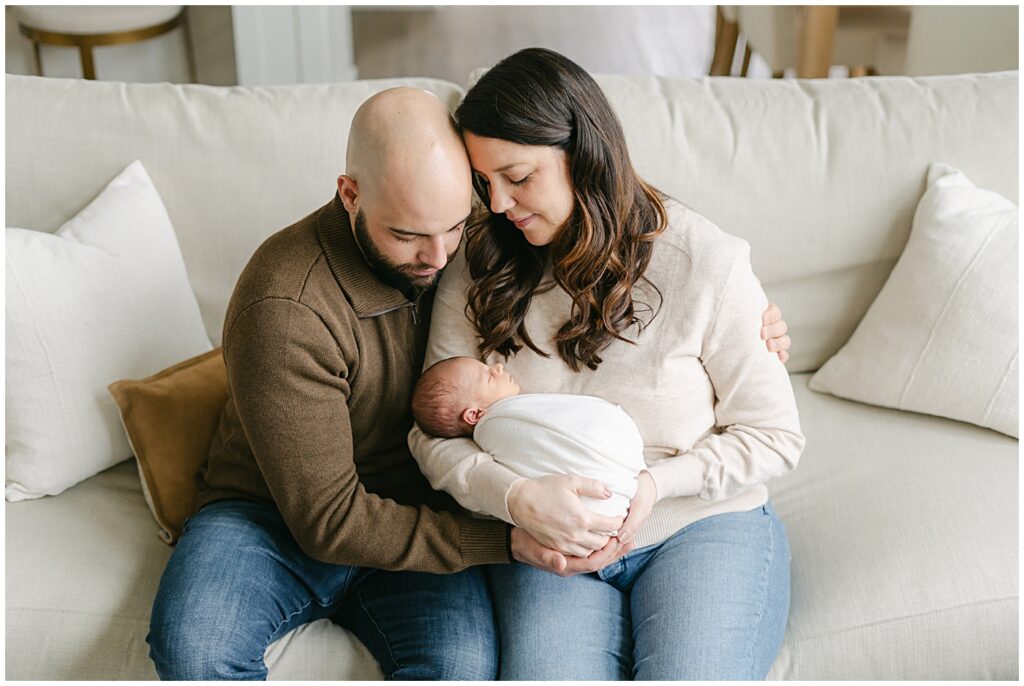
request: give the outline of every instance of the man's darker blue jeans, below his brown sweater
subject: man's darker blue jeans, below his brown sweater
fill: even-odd
[[[259,680],[267,645],[322,617],[352,631],[389,679],[497,675],[494,610],[479,567],[428,574],[317,562],[276,508],[245,501],[212,503],[185,522],[146,642],[161,679]]]

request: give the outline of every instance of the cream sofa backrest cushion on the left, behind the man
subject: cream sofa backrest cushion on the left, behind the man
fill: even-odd
[[[213,88],[7,76],[7,225],[52,231],[141,160],[178,235],[210,339],[256,247],[331,200],[372,93],[434,79]]]

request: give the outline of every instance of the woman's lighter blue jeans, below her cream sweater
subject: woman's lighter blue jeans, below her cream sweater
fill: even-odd
[[[771,505],[694,522],[593,574],[487,574],[503,680],[764,679],[790,612]]]

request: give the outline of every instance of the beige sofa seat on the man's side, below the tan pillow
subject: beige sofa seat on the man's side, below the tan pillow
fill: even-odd
[[[134,461],[60,496],[8,503],[6,678],[156,679],[145,635],[172,549]],[[266,653],[271,679],[380,679],[370,652],[324,619]]]

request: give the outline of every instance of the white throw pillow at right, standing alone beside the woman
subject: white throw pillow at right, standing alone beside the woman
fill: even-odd
[[[933,164],[903,254],[810,387],[1018,436],[1018,217]]]

